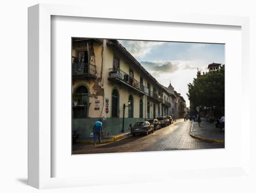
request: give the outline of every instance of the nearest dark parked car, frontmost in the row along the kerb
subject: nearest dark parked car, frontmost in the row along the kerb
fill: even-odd
[[[148,135],[149,132],[154,132],[154,125],[151,125],[148,121],[136,122],[133,127],[131,127],[131,134],[135,136],[137,133],[143,133]]]

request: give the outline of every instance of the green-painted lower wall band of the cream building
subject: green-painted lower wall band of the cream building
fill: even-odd
[[[94,122],[98,121],[99,118],[81,118],[81,119],[73,119],[72,127],[73,130],[77,130],[79,133],[79,139],[89,139],[89,135],[93,130]],[[117,135],[121,133],[122,130],[122,118],[107,118],[102,122],[104,137],[108,137],[111,135]],[[144,121],[143,118],[125,118],[124,119],[124,130],[125,132],[130,131],[129,124],[132,126],[135,122]]]

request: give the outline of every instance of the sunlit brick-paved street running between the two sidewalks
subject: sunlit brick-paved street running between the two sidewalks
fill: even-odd
[[[74,144],[73,154],[168,151],[184,149],[224,148],[223,143],[205,142],[191,137],[191,121],[183,119],[149,135],[129,136],[108,144]]]

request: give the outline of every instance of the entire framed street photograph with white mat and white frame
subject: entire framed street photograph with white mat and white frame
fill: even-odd
[[[243,17],[29,7],[28,184],[248,176],[248,33]]]

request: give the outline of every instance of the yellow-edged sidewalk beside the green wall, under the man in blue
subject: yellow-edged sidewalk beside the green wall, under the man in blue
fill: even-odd
[[[110,142],[114,142],[123,138],[126,138],[128,136],[130,136],[131,133],[130,132],[125,132],[125,133],[120,133],[118,135],[113,135],[113,136],[107,136],[104,137],[103,139],[101,139],[101,143],[110,143]],[[89,144],[93,144],[94,140],[93,139],[85,139],[85,140],[77,140],[76,143],[89,143]],[[97,139],[97,144],[98,144],[98,139]]]

